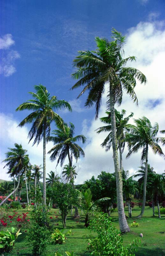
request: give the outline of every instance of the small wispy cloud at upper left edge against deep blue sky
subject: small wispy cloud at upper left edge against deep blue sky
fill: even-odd
[[[15,60],[20,58],[17,51],[10,50],[9,48],[15,44],[11,34],[6,34],[0,37],[0,50],[1,50],[1,62],[0,62],[0,74],[4,76],[11,76],[16,72],[14,66]]]

